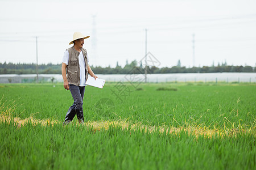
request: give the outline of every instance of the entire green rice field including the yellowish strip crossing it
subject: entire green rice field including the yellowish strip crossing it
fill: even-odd
[[[255,83],[0,84],[0,169],[255,169]]]

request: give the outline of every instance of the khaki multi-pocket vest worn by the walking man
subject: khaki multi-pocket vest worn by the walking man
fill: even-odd
[[[67,65],[67,73],[68,73],[68,82],[69,84],[74,84],[79,86],[80,84],[80,66],[79,66],[79,52],[72,46],[67,49],[69,53],[69,60]],[[87,52],[86,49],[82,48],[82,55],[84,56],[85,61],[85,79],[88,78],[88,61],[87,61]]]

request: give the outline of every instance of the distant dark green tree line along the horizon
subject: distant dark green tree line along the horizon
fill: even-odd
[[[142,65],[138,65],[136,60],[121,67],[117,65],[115,67],[101,67],[90,66],[95,74],[142,74],[145,68]],[[226,63],[218,64],[217,66],[203,66],[203,67],[184,67],[180,65],[180,61],[176,66],[172,67],[147,67],[147,73],[149,74],[163,74],[163,73],[222,73],[222,72],[234,72],[234,73],[256,73],[256,67],[251,66],[229,66]],[[38,65],[39,74],[61,74],[61,64],[48,63]],[[0,74],[36,74],[35,63],[0,63]]]

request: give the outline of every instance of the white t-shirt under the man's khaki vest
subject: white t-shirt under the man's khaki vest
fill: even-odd
[[[68,53],[68,50],[65,50],[62,62],[65,63],[66,65],[68,65],[68,61],[69,61],[69,53]],[[88,61],[88,59],[87,59],[87,61]],[[82,55],[82,51],[79,54],[79,67],[80,67],[80,84],[79,84],[79,86],[86,86],[85,85],[85,82],[86,82],[85,61],[84,61],[84,56]]]

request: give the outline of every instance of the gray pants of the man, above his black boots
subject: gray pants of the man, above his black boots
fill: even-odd
[[[69,90],[74,99],[73,105],[70,107],[72,110],[79,109],[82,110],[82,100],[84,99],[84,90],[85,87],[75,86],[73,84],[69,84]]]

